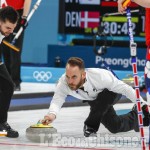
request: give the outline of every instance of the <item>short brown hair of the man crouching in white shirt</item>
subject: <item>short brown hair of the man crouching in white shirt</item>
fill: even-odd
[[[70,57],[67,61],[70,66],[78,66],[79,69],[85,69],[84,61],[79,57]]]

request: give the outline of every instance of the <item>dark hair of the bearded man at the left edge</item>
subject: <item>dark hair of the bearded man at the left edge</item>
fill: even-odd
[[[19,14],[17,11],[10,7],[6,6],[0,10],[0,21],[6,22],[7,20],[15,24],[19,19]]]

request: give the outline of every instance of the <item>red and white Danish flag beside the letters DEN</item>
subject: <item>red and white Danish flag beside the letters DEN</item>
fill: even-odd
[[[95,28],[99,26],[99,12],[80,12],[80,27],[81,28]]]

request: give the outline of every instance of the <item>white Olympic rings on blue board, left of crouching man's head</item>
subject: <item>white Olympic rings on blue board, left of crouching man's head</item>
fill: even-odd
[[[44,81],[47,82],[50,78],[52,78],[52,73],[50,71],[34,71],[33,72],[33,78],[35,78],[37,81]]]

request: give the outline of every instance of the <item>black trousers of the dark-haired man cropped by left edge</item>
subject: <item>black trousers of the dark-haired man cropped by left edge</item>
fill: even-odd
[[[7,113],[14,91],[13,81],[4,64],[0,65],[0,123],[7,121]]]

